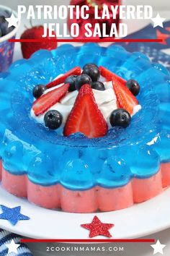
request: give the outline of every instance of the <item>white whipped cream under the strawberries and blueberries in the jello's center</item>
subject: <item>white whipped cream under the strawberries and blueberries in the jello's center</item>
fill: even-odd
[[[109,122],[109,116],[114,111],[117,109],[117,98],[115,95],[115,92],[112,88],[112,81],[111,82],[103,82],[105,90],[93,90],[94,93],[94,98],[97,102],[97,105],[99,107],[99,110],[102,112],[104,119],[107,121],[108,127],[110,128],[110,122]],[[63,85],[63,84],[61,84]],[[59,86],[61,86],[59,85]],[[50,88],[48,90],[45,90],[45,93],[48,93],[50,90],[54,90],[56,87]],[[45,94],[44,93],[44,94]],[[58,133],[63,134],[63,127],[66,124],[66,120],[68,118],[68,115],[71,112],[71,109],[73,108],[74,102],[76,101],[76,97],[78,95],[78,90],[74,90],[71,93],[67,93],[65,97],[61,99],[60,102],[56,103],[55,105],[51,106],[48,111],[50,110],[57,110],[59,111],[62,116],[63,116],[63,121],[61,127],[58,129]],[[141,109],[140,105],[135,106],[133,115],[136,114],[139,110]],[[35,121],[38,123],[44,124],[44,116],[48,112],[46,111],[45,113],[35,116],[34,111],[31,109],[31,116]]]

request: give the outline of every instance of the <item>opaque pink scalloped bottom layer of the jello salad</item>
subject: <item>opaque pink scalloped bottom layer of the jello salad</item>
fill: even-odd
[[[92,213],[96,210],[110,211],[128,208],[135,202],[155,197],[170,185],[170,163],[162,163],[157,174],[148,179],[132,179],[124,187],[107,189],[94,187],[85,191],[73,191],[60,184],[43,187],[30,182],[26,175],[13,175],[0,163],[1,184],[17,197],[27,197],[30,202],[43,208],[70,213]]]

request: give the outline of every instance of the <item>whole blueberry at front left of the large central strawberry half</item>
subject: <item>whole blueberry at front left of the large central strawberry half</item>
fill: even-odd
[[[50,110],[44,116],[45,127],[49,129],[58,129],[63,121],[63,116],[57,110]]]

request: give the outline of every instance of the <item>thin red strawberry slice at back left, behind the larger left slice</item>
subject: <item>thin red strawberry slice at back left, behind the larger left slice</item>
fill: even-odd
[[[80,75],[81,74],[81,67],[74,67],[73,69],[66,72],[66,74],[63,74],[62,77],[58,77],[53,82],[49,82],[48,85],[46,85],[46,88],[52,88],[56,85],[61,85],[67,77],[69,77],[71,74]]]

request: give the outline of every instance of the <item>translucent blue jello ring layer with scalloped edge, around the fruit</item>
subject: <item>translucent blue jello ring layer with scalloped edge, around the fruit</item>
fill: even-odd
[[[142,110],[127,129],[110,129],[101,138],[57,135],[30,117],[32,88],[47,84],[75,66],[95,62],[126,80],[140,83]],[[63,45],[38,51],[29,60],[12,64],[0,77],[0,148],[4,168],[27,174],[35,184],[61,183],[68,189],[95,185],[113,188],[156,174],[170,161],[170,75],[140,53],[121,46]]]

